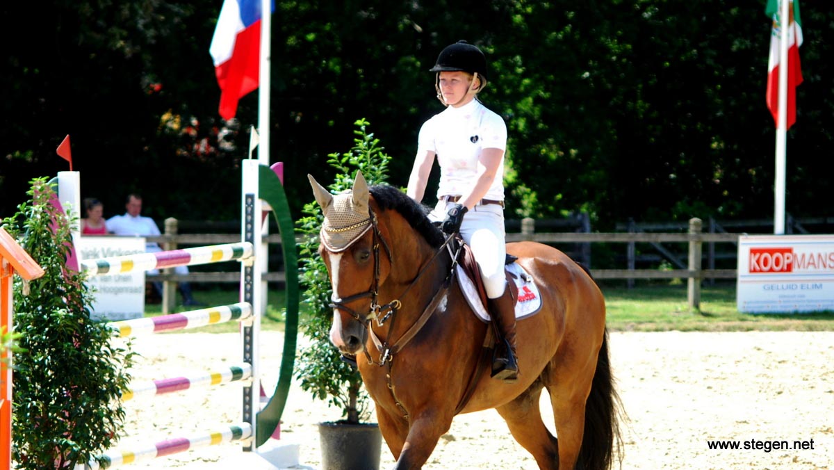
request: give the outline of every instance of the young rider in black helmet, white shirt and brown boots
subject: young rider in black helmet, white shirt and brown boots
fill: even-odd
[[[504,152],[507,128],[477,95],[486,86],[486,58],[459,41],[443,49],[435,67],[437,98],[446,106],[423,124],[408,195],[420,202],[435,162],[440,164],[437,205],[429,218],[447,234],[460,232],[484,280],[488,307],[505,346],[496,351],[492,377],[515,382],[515,308],[504,274]],[[464,215],[466,215],[464,217]]]

